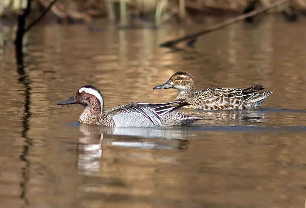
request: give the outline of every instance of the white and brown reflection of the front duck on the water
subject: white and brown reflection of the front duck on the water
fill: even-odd
[[[141,149],[185,149],[193,135],[188,128],[145,128],[145,127],[103,127],[89,124],[79,124],[79,130],[84,137],[78,144],[78,173],[80,175],[100,175],[103,157],[103,146],[122,146]],[[119,138],[116,136],[122,135]],[[128,136],[128,138],[127,138]],[[136,137],[136,138],[135,138]],[[128,151],[129,152],[129,151]],[[172,157],[157,158],[142,153],[128,153],[127,157],[137,157],[143,160],[162,160],[165,163],[177,163]]]

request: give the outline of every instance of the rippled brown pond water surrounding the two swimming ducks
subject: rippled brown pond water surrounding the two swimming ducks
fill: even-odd
[[[305,23],[238,23],[178,52],[158,44],[205,25],[35,27],[23,75],[9,42],[0,48],[1,207],[304,207]],[[78,126],[82,106],[56,106],[85,84],[106,109],[173,100],[176,90],[152,88],[177,70],[196,89],[275,91],[256,109],[184,109],[205,118],[189,127]]]

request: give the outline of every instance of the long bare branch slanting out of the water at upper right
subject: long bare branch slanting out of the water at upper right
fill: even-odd
[[[226,20],[222,23],[219,23],[219,24],[216,24],[208,29],[205,29],[205,30],[202,30],[200,32],[197,32],[195,34],[191,34],[191,35],[187,35],[183,38],[179,38],[179,39],[176,39],[176,40],[172,40],[172,41],[167,41],[167,42],[164,42],[164,43],[161,43],[159,46],[160,47],[167,47],[167,48],[174,48],[175,49],[175,44],[179,43],[179,42],[182,42],[182,41],[191,41],[191,40],[194,40],[196,39],[197,37],[203,35],[203,34],[206,34],[206,33],[209,33],[209,32],[213,32],[215,30],[219,30],[219,29],[222,29],[224,27],[227,27],[233,23],[236,23],[236,22],[239,22],[241,20],[244,20],[246,18],[249,18],[249,17],[252,17],[252,16],[255,16],[259,13],[263,13],[269,9],[272,9],[274,7],[277,7],[278,5],[281,5],[283,3],[286,3],[286,2],[289,2],[289,1],[292,1],[292,0],[280,0],[280,1],[277,1],[277,2],[274,2],[273,4],[267,6],[267,7],[263,7],[263,8],[259,8],[259,9],[255,9],[253,10],[252,12],[248,12],[248,13],[245,13],[245,14],[241,14],[239,16],[236,16],[236,17],[233,17],[229,20]]]

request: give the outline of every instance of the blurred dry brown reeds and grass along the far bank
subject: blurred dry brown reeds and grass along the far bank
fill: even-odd
[[[28,0],[1,0],[0,16],[13,18],[22,13]],[[38,15],[53,0],[32,0],[32,16]],[[201,16],[233,16],[243,13],[248,6],[255,9],[268,6],[275,0],[58,0],[48,13],[58,23],[84,22],[92,24],[96,18],[107,18],[111,23],[131,25],[137,20],[154,22],[196,23]],[[306,0],[293,0],[270,12],[304,13]],[[54,17],[54,18],[52,18]]]

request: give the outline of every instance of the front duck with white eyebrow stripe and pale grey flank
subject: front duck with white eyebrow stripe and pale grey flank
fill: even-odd
[[[85,107],[79,117],[83,124],[94,124],[109,127],[159,127],[191,124],[200,120],[199,117],[173,112],[188,105],[185,99],[166,103],[131,102],[115,106],[103,112],[101,92],[91,85],[80,88],[72,98],[59,102],[58,105],[81,104]]]

